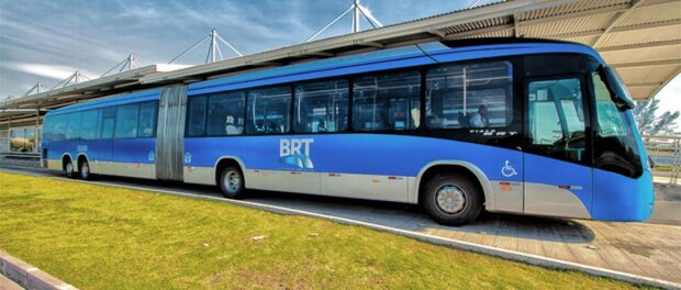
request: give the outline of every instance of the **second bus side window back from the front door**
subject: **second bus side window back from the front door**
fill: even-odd
[[[353,129],[413,130],[418,126],[421,72],[359,77],[353,82]]]

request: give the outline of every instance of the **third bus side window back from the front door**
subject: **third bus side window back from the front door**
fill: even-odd
[[[348,90],[346,80],[297,86],[293,130],[300,133],[346,131]]]

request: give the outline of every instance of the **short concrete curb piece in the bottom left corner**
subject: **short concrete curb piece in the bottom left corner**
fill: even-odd
[[[0,250],[0,272],[25,289],[77,290],[78,288]]]

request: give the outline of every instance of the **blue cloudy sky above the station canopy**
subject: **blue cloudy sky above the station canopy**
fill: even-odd
[[[492,1],[361,3],[383,24],[393,24]],[[131,53],[142,65],[165,64],[211,29],[244,54],[301,43],[350,4],[351,0],[0,0],[0,99],[22,96],[38,80],[52,88],[75,70],[96,78]],[[320,37],[349,29],[348,15]],[[204,44],[177,63],[201,64],[206,51]],[[234,56],[226,48],[222,52]],[[663,110],[681,111],[681,77],[657,98]]]

